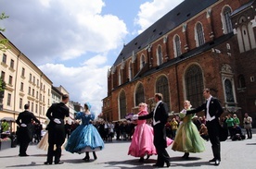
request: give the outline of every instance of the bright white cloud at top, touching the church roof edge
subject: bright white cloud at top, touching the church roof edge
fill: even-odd
[[[141,28],[138,30],[138,33],[146,30],[183,1],[184,0],[154,0],[153,2],[147,2],[141,5],[137,18],[134,20],[135,24],[139,25]]]

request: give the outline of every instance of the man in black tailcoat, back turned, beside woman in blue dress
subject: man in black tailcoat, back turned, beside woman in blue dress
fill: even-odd
[[[62,102],[53,103],[47,110],[46,116],[50,119],[48,125],[48,152],[47,161],[45,164],[53,163],[53,156],[55,156],[55,164],[61,164],[61,146],[65,141],[65,116],[70,116],[69,107],[65,104],[69,102],[69,95],[64,94],[62,96]],[[54,151],[54,145],[56,145],[56,151]]]

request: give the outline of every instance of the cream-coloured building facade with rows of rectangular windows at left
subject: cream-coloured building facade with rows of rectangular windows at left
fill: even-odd
[[[6,37],[0,33],[0,39]],[[0,119],[17,119],[24,111],[24,104],[29,103],[30,111],[45,121],[45,111],[51,105],[52,81],[14,44],[7,42],[6,46],[9,47],[6,51],[0,50],[1,78],[6,82]],[[16,130],[15,123],[11,129]]]

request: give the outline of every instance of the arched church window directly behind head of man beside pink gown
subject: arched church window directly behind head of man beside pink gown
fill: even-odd
[[[171,112],[168,79],[165,76],[158,78],[156,91],[162,94],[163,102],[167,103],[168,111]]]

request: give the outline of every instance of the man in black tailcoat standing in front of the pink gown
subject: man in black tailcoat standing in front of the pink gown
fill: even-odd
[[[170,156],[168,152],[165,150],[167,147],[166,143],[166,128],[165,124],[168,119],[168,108],[167,104],[162,101],[162,94],[155,94],[156,107],[154,111],[152,111],[148,115],[137,116],[134,115],[133,119],[144,120],[147,118],[152,118],[153,120],[153,129],[154,129],[154,145],[158,152],[158,160],[157,163],[153,164],[156,167],[163,167],[164,163],[166,163],[167,167],[170,166]]]

